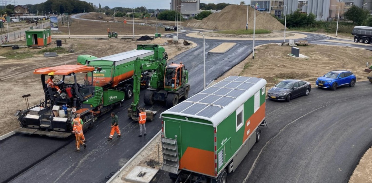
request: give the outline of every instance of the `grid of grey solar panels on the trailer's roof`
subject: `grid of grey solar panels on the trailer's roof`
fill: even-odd
[[[261,79],[230,76],[167,111],[211,118]]]

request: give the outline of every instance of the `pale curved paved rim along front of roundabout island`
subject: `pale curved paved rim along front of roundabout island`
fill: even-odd
[[[213,32],[213,31],[207,31],[207,32]],[[307,38],[307,35],[300,34],[300,33],[294,33],[294,36],[286,37],[286,39],[302,39]],[[202,35],[199,35],[198,32],[188,33],[186,36],[191,38],[203,38]],[[212,37],[212,36],[205,36],[205,39],[216,39],[216,40],[235,40],[235,41],[251,41],[253,38],[227,38],[227,37]],[[265,40],[282,40],[283,37],[276,37],[276,38],[254,38],[257,41],[265,41]]]

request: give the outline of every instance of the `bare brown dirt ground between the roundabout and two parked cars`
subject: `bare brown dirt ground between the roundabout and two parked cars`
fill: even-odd
[[[263,45],[256,48],[254,60],[252,55],[240,64],[219,77],[215,82],[228,76],[252,76],[264,78],[267,89],[275,86],[283,79],[299,79],[309,81],[315,86],[317,77],[331,70],[350,70],[356,75],[357,81],[367,80],[364,72],[366,62],[371,60],[371,51],[365,49],[309,45],[299,46],[300,53],[310,58],[293,58],[291,46],[277,44]]]

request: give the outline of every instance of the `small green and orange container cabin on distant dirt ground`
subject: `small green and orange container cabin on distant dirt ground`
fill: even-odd
[[[25,30],[27,46],[46,46],[51,43],[50,29]]]

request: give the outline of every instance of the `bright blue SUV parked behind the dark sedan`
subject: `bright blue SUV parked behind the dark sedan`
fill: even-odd
[[[330,88],[336,90],[337,87],[349,84],[350,87],[355,86],[356,77],[350,71],[336,70],[330,71],[322,77],[318,77],[315,85],[321,88]]]

